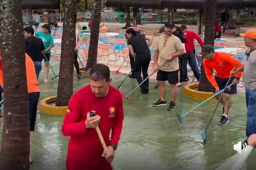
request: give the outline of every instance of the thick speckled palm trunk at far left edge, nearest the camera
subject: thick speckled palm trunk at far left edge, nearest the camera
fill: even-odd
[[[0,1],[4,117],[0,170],[29,169],[29,104],[21,0]]]

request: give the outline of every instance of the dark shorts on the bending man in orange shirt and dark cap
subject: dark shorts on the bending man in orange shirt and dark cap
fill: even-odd
[[[230,85],[232,83],[232,81],[234,80],[235,77],[231,77],[228,85]],[[215,80],[220,88],[220,90],[224,89],[227,82],[228,82],[228,79],[229,78],[219,78],[217,76],[215,76]],[[215,88],[213,89],[213,92],[215,93]],[[236,84],[235,85],[232,85],[231,87],[227,88],[224,93],[227,93],[227,94],[236,94]]]

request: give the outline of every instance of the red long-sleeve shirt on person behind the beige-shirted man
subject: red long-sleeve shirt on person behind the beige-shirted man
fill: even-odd
[[[195,50],[194,39],[198,41],[201,48],[203,47],[203,40],[193,31],[184,31],[184,37],[187,40],[185,43],[186,53],[190,53]]]

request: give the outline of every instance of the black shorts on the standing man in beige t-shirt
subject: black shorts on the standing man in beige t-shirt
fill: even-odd
[[[178,72],[179,72],[179,70],[176,70],[176,71],[158,70],[156,80],[158,80],[158,81],[167,81],[168,80],[168,82],[170,84],[176,84],[179,82]]]

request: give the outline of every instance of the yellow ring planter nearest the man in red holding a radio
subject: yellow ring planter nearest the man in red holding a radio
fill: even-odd
[[[56,102],[56,96],[51,96],[42,99],[39,102],[39,110],[41,113],[50,115],[65,115],[67,112],[67,106],[51,106],[49,103]]]

